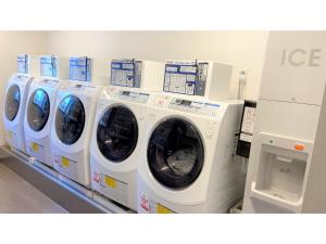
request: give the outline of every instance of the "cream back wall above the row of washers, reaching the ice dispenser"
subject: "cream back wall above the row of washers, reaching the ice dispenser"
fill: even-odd
[[[231,64],[230,92],[235,98],[239,72],[249,70],[244,98],[256,100],[267,42],[267,31],[49,31],[48,51],[62,56],[103,59],[137,57],[213,60]],[[95,65],[103,78],[109,66]]]

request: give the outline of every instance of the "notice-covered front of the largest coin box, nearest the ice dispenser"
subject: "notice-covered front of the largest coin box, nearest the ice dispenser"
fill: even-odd
[[[163,90],[188,95],[204,95],[208,70],[208,62],[167,62]]]

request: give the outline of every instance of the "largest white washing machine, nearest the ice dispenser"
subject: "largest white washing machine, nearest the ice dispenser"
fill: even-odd
[[[156,94],[138,164],[138,213],[227,213],[241,197],[233,160],[243,103]]]

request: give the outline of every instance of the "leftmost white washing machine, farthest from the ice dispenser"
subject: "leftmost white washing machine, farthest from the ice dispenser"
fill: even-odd
[[[5,140],[16,150],[26,152],[24,137],[24,114],[28,88],[33,76],[26,74],[13,75],[7,84],[3,105],[3,121]]]

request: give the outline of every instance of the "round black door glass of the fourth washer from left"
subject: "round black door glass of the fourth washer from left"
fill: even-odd
[[[134,152],[138,140],[135,115],[125,106],[109,107],[99,121],[97,141],[109,160],[120,163]]]

